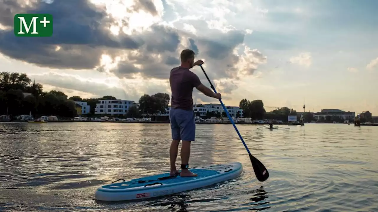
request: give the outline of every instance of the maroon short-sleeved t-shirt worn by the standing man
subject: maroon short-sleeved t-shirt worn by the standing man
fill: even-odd
[[[193,88],[201,84],[200,78],[188,68],[178,66],[170,71],[169,83],[172,91],[170,107],[193,110]]]

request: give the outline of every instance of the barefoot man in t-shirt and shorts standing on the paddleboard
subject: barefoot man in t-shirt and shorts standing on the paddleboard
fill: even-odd
[[[181,65],[170,71],[169,83],[172,92],[169,110],[169,121],[172,131],[172,144],[170,144],[170,175],[177,175],[176,158],[178,144],[181,146],[181,177],[195,177],[197,174],[188,170],[191,141],[195,138],[195,117],[193,111],[193,88],[197,88],[204,95],[221,99],[210,88],[204,86],[198,76],[189,69],[202,65],[202,60],[194,62],[194,51],[184,49],[181,52]]]

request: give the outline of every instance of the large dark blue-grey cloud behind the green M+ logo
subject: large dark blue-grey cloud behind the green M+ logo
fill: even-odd
[[[106,29],[115,21],[104,8],[87,0],[35,1],[23,8],[21,1],[0,0],[0,8],[13,17],[20,12],[49,13],[54,17],[52,37],[14,36],[13,29],[0,31],[0,52],[9,57],[51,68],[90,69],[99,64],[101,55],[110,48],[137,49],[141,39],[121,34],[115,37]],[[9,20],[0,17],[0,23]],[[56,46],[60,46],[56,51]]]

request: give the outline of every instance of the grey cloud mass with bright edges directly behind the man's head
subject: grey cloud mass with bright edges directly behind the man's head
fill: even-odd
[[[112,70],[118,77],[130,78],[130,74],[141,73],[146,78],[167,79],[170,70],[174,66],[180,65],[180,60],[178,60],[180,52],[177,51],[177,48],[180,44],[180,34],[185,34],[163,26],[153,26],[152,30],[146,35],[141,35],[143,40],[146,41],[145,45],[139,48],[139,53],[130,54],[126,60],[121,61],[118,67]],[[239,60],[239,57],[232,52],[237,45],[243,42],[243,38],[244,35],[240,32],[220,34],[215,38],[216,40],[189,38],[188,46],[184,46],[184,48],[192,49],[198,54],[196,59],[214,59],[213,62],[210,62],[210,65],[217,69],[211,70],[208,74],[212,79],[229,77],[232,72],[236,71],[234,64]],[[203,49],[201,50],[202,53],[198,51],[199,48]],[[150,54],[151,52],[164,54],[160,54],[161,58],[157,58]],[[131,64],[139,64],[143,68],[138,69]],[[201,69],[199,70],[201,71]],[[198,76],[201,80],[206,80],[201,72]]]

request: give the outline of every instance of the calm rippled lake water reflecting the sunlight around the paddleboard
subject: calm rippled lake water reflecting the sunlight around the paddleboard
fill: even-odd
[[[0,123],[0,211],[378,211],[378,127],[277,126],[237,125],[270,172],[265,182],[231,124],[197,124],[189,166],[239,161],[242,176],[103,203],[94,200],[98,186],[169,170],[169,124]]]

